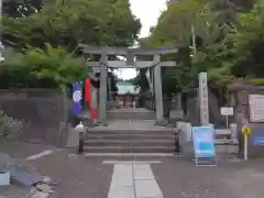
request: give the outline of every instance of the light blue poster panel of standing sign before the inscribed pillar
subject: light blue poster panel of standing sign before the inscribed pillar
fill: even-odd
[[[193,141],[196,158],[216,157],[216,139],[212,127],[193,127]]]

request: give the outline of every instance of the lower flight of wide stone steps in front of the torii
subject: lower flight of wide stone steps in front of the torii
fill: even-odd
[[[173,129],[154,127],[154,121],[113,121],[108,127],[89,129],[85,153],[95,156],[173,155]]]

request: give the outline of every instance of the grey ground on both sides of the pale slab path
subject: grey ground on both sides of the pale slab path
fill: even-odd
[[[11,147],[8,153],[20,157],[47,148],[37,145]],[[3,146],[1,145],[0,148]],[[141,158],[136,160],[141,161]],[[164,198],[264,197],[264,160],[245,163],[224,156],[220,157],[216,167],[195,167],[194,163],[176,157],[142,158],[144,160],[162,162],[152,164],[152,168]],[[59,150],[53,155],[26,163],[26,166],[35,168],[44,176],[50,176],[58,184],[53,198],[107,198],[113,165],[102,164],[102,158],[69,157],[67,151]],[[4,195],[4,198],[24,198],[22,195],[26,193],[29,189],[16,186],[0,187],[0,197]]]

